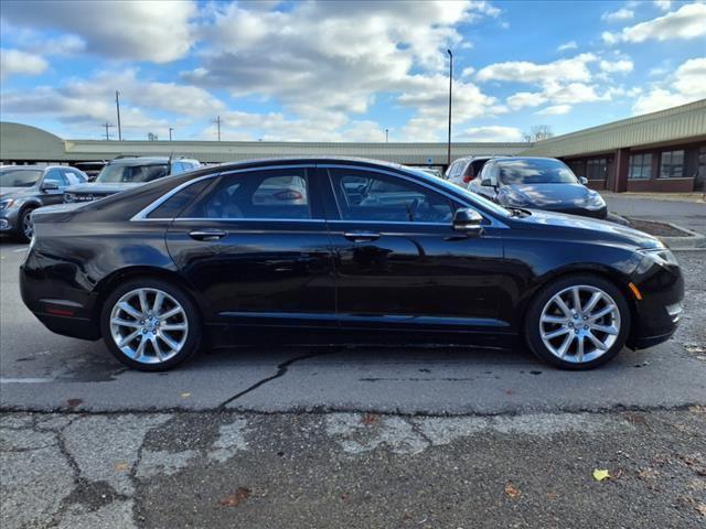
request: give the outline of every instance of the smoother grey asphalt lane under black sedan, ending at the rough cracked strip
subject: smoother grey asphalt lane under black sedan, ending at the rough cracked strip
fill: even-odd
[[[201,355],[165,374],[124,368],[101,342],[52,334],[24,307],[26,246],[0,242],[0,404],[4,410],[407,414],[649,409],[706,403],[703,252],[689,263],[695,301],[677,339],[625,349],[601,369],[560,371],[528,350],[470,347],[248,347]],[[699,279],[702,278],[702,279]],[[699,287],[700,285],[700,287]],[[698,300],[702,302],[698,302]],[[703,345],[703,344],[702,344]]]

